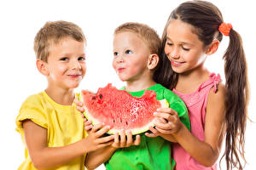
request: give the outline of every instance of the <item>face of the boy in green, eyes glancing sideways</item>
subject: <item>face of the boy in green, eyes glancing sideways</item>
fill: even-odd
[[[123,82],[149,77],[150,50],[137,33],[122,31],[113,37],[113,69]]]

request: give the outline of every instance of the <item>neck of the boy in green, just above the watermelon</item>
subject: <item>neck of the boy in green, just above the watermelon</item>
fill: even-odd
[[[156,82],[152,78],[149,78],[148,80],[143,79],[137,80],[137,81],[127,81],[125,89],[129,92],[137,92],[141,91],[146,88],[150,88],[151,86],[154,86]]]

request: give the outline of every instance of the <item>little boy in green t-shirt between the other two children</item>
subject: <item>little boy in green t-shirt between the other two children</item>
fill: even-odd
[[[189,116],[183,101],[171,90],[153,80],[159,53],[160,37],[148,26],[125,23],[114,31],[113,68],[119,79],[126,82],[126,86],[121,90],[126,90],[137,97],[142,96],[145,90],[154,90],[157,99],[167,99],[184,125],[190,128]],[[157,129],[156,127],[151,130]],[[149,133],[147,134],[150,136]],[[88,154],[85,166],[96,168],[105,162],[107,169],[172,169],[175,164],[171,156],[172,135],[160,134],[160,136],[148,138],[145,134],[141,134],[140,144],[135,142],[131,145],[131,133],[127,132],[127,140],[125,140],[125,132],[121,132],[120,141],[116,135],[111,146]]]

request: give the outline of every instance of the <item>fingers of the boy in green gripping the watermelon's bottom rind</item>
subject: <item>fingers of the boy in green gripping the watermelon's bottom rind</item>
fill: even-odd
[[[119,136],[120,136],[120,140],[119,140]],[[120,132],[120,135],[119,135],[119,133],[116,133],[114,135],[114,142],[112,144],[112,147],[113,148],[124,148],[124,147],[129,147],[131,145],[139,145],[140,143],[141,143],[140,135],[136,135],[136,139],[133,140],[131,131],[127,131],[127,133],[125,135],[125,131],[122,130]]]

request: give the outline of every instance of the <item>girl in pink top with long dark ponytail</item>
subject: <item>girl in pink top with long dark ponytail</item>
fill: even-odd
[[[204,67],[223,34],[230,37],[224,54],[225,85]],[[242,169],[239,154],[244,158],[248,89],[241,37],[212,3],[190,1],[172,11],[162,40],[165,54],[154,80],[183,99],[191,122],[190,133],[176,114],[169,113],[169,133],[178,143],[173,144],[176,169],[216,169],[224,136],[227,169]],[[157,116],[170,112],[160,111]]]

